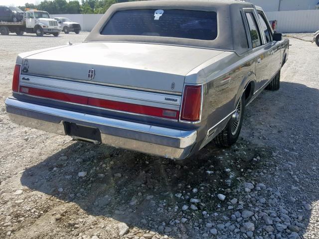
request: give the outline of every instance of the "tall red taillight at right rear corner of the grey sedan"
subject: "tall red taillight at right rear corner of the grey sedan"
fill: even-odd
[[[201,86],[185,86],[180,119],[198,121],[201,110]]]

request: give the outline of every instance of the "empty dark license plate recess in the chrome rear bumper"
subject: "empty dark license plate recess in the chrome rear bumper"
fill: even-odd
[[[102,142],[101,132],[98,128],[70,122],[63,122],[63,124],[65,132],[69,136],[75,137],[77,139],[91,141],[94,143]]]

